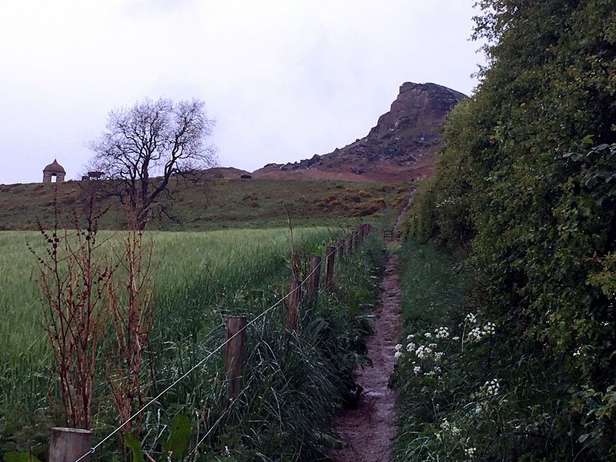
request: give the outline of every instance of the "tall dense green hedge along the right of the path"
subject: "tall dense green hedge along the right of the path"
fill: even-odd
[[[523,403],[506,406],[508,419],[535,419],[516,435],[543,441],[529,454],[609,459],[616,11],[601,0],[479,6],[474,36],[487,40],[488,66],[450,114],[437,176],[419,188],[408,229],[468,256],[467,303],[496,325],[490,368],[521,377],[508,384]]]

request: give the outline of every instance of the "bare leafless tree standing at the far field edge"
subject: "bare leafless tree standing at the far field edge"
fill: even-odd
[[[205,103],[194,99],[145,99],[112,110],[107,131],[89,143],[89,169],[102,172],[105,192],[129,205],[144,229],[157,213],[173,218],[171,179],[196,181],[217,165],[216,147],[205,144],[213,126]]]

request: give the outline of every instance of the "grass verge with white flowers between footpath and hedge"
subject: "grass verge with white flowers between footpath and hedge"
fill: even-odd
[[[477,310],[471,275],[448,256],[409,240],[401,260],[392,460],[580,460],[582,452],[562,445],[569,437],[573,447],[575,437],[557,434],[575,421],[562,415],[565,390],[553,385],[559,368],[541,367],[540,344],[503,338],[502,320]],[[518,362],[508,360],[512,345]]]

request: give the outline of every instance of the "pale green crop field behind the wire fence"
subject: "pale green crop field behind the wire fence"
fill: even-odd
[[[296,244],[321,245],[330,238],[325,227],[293,230]],[[120,235],[99,232],[105,253],[113,254]],[[153,232],[155,274],[154,333],[161,341],[180,341],[219,322],[216,314],[233,304],[250,305],[277,281],[288,279],[289,229],[215,232]],[[0,409],[23,400],[45,402],[51,354],[43,331],[41,291],[36,259],[26,246],[42,251],[38,232],[0,233]]]

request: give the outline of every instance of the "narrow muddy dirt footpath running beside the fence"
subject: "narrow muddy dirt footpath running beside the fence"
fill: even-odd
[[[336,419],[336,432],[344,443],[341,450],[330,450],[334,462],[385,462],[395,436],[395,392],[387,387],[394,370],[395,344],[400,330],[400,288],[391,255],[381,280],[381,303],[375,314],[375,333],[367,338],[368,356],[374,367],[355,371],[355,382],[363,387],[357,409],[344,410]]]

